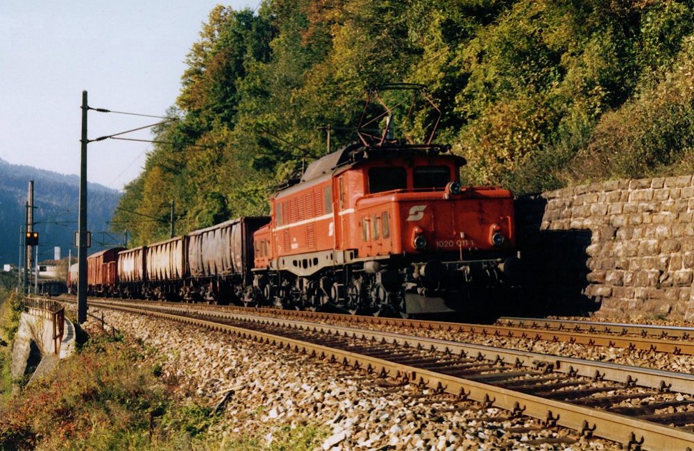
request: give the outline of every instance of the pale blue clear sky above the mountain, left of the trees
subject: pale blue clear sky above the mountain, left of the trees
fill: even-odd
[[[80,171],[82,91],[93,108],[161,114],[180,90],[185,56],[214,5],[260,0],[0,0],[0,158]],[[156,119],[89,113],[89,138]],[[150,139],[149,130],[128,137]],[[121,189],[151,144],[89,145],[88,180]]]

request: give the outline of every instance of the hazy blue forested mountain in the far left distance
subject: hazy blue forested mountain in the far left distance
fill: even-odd
[[[20,228],[24,227],[29,180],[34,181],[34,230],[39,232],[39,260],[53,259],[53,248],[61,256],[73,255],[74,232],[79,215],[80,179],[52,171],[10,164],[0,159],[0,264],[19,263]],[[95,183],[87,185],[87,225],[92,231],[90,253],[111,247],[121,237],[106,233],[107,221],[120,193]],[[23,240],[22,240],[23,241]]]

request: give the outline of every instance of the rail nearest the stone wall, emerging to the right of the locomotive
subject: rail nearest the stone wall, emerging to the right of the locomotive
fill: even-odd
[[[658,337],[688,340],[694,337],[694,327],[668,326],[656,324],[608,323],[602,321],[580,321],[547,318],[521,318],[502,316],[498,319],[502,325],[529,327],[530,329],[569,330],[606,334],[633,334],[641,337]]]

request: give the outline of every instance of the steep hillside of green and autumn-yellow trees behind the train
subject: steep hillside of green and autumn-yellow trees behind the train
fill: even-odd
[[[536,192],[694,171],[694,1],[264,0],[218,6],[180,118],[155,132],[125,210],[140,243],[266,212],[278,182],[355,140],[367,87],[427,85],[468,183]],[[172,99],[172,102],[174,99]],[[422,128],[421,115],[414,128]],[[163,193],[166,193],[165,195]],[[119,220],[135,216],[121,211]]]

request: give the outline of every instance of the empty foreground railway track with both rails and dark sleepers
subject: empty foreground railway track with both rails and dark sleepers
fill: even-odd
[[[628,449],[694,448],[694,378],[682,373],[209,309],[90,304],[226,330]]]

